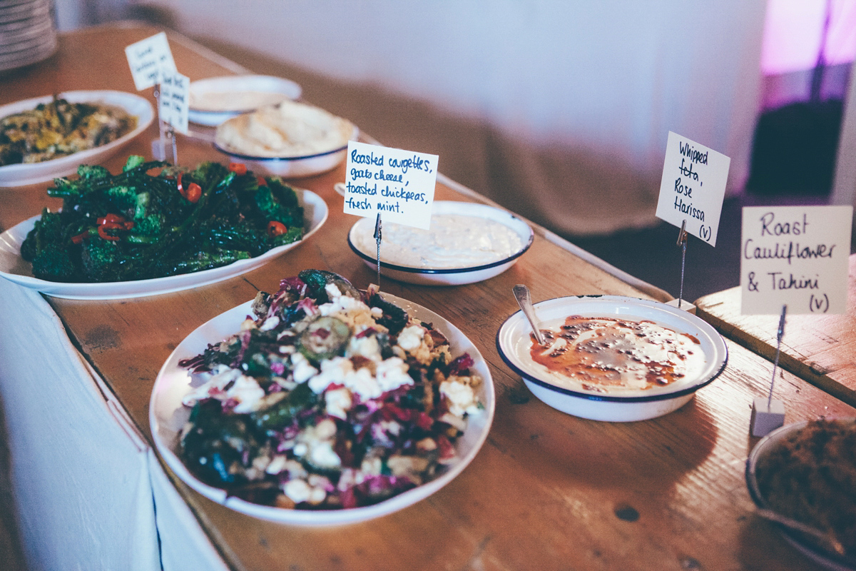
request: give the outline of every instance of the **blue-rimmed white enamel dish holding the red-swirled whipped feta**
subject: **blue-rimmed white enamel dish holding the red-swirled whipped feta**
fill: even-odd
[[[580,295],[534,304],[543,329],[556,329],[570,315],[647,319],[678,333],[695,336],[704,352],[704,368],[697,378],[686,378],[663,387],[623,390],[611,394],[569,390],[550,383],[550,372],[532,360],[531,328],[523,312],[512,314],[496,333],[502,360],[523,378],[532,394],[550,407],[584,419],[629,422],[670,413],[693,398],[696,390],[718,377],[728,361],[728,347],[710,324],[691,313],[650,300],[623,295]]]

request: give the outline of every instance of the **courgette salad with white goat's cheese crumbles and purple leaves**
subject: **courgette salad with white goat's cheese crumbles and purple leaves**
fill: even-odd
[[[253,313],[180,361],[193,389],[179,455],[197,478],[253,503],[348,509],[455,461],[482,379],[431,324],[318,270],[260,292]]]

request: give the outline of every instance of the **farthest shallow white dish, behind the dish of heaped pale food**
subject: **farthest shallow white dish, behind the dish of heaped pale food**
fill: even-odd
[[[300,85],[294,81],[271,75],[211,77],[192,81],[189,89],[190,105],[187,118],[191,122],[208,126],[219,125],[230,117],[256,110],[260,106],[240,97],[229,98],[229,94],[238,96],[241,93],[265,93],[297,99],[302,92]],[[218,104],[206,103],[204,98],[211,97],[212,94],[223,94],[229,101],[217,102]]]

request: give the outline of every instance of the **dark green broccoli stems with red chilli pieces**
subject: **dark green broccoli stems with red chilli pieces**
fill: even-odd
[[[125,282],[203,271],[254,258],[303,236],[303,208],[279,177],[243,164],[195,170],[131,156],[122,172],[82,165],[57,178],[21,244],[33,276],[51,282]]]

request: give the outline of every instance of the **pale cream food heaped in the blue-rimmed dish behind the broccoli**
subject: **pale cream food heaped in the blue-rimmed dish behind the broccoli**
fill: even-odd
[[[302,157],[348,145],[354,124],[312,105],[282,101],[217,127],[217,145],[253,157]]]

